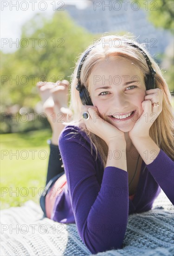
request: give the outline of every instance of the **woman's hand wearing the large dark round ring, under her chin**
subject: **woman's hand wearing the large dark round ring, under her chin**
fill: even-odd
[[[89,120],[85,121],[87,129],[102,138],[109,146],[112,143],[125,142],[124,133],[99,116],[97,107],[82,106],[82,114],[87,111]]]

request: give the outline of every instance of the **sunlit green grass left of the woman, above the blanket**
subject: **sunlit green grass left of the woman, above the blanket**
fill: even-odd
[[[46,141],[50,137],[50,130],[0,135],[1,209],[21,206],[28,200],[39,203],[49,157]]]

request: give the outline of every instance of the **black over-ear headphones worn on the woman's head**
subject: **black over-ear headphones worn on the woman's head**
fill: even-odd
[[[148,65],[148,68],[149,68],[149,71],[150,71],[149,74],[147,74],[146,77],[145,77],[146,89],[147,89],[147,90],[149,90],[149,89],[155,89],[155,74],[156,74],[156,72],[155,72],[154,68],[152,67],[152,63],[150,62],[150,60],[149,60],[147,54],[142,50],[142,48],[138,47],[137,45],[132,44],[132,43],[129,43],[129,42],[127,42],[127,44],[129,44],[129,45],[131,45],[131,46],[137,48],[137,49],[138,49],[139,51],[141,51],[142,54],[144,55],[144,58],[145,58],[145,60],[146,60],[146,63],[147,63],[147,65]],[[94,46],[93,46],[93,47],[94,47]],[[93,104],[92,104],[92,101],[91,101],[91,99],[90,99],[89,92],[88,92],[88,90],[86,89],[86,87],[85,87],[84,85],[82,85],[81,82],[80,82],[80,73],[81,73],[81,70],[82,70],[82,66],[83,66],[83,64],[84,64],[84,61],[85,61],[86,57],[88,56],[88,54],[90,53],[90,51],[92,50],[93,47],[90,47],[90,49],[88,49],[88,50],[84,53],[84,55],[83,55],[83,57],[82,57],[82,59],[81,59],[81,61],[80,61],[80,64],[79,64],[78,70],[77,70],[77,79],[78,79],[78,82],[77,82],[77,86],[76,86],[77,91],[79,91],[80,99],[81,99],[81,101],[82,101],[82,104],[83,104],[83,105],[91,105],[91,106],[92,106]]]

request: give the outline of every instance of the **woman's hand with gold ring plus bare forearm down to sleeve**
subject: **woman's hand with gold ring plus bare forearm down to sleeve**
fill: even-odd
[[[159,103],[154,106],[153,103]],[[130,139],[146,164],[152,163],[160,148],[149,136],[149,129],[162,111],[162,91],[158,88],[146,91],[142,101],[143,113],[129,132]]]

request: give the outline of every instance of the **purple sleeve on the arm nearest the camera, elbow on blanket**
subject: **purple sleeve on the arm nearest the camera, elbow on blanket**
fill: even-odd
[[[128,173],[107,167],[100,186],[89,144],[68,132],[60,135],[59,148],[79,236],[91,253],[120,249],[129,214]]]

